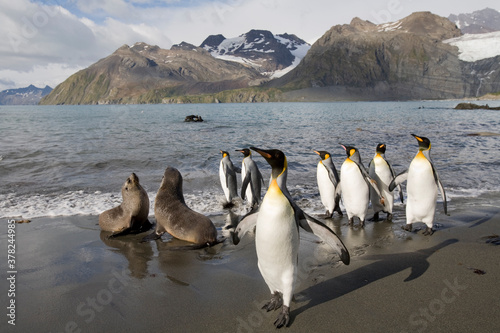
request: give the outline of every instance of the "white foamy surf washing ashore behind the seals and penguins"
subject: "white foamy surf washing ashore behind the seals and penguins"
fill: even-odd
[[[290,186],[290,193],[304,211],[314,214],[323,213],[323,206],[314,186]],[[478,198],[496,194],[500,189],[448,188],[448,201],[464,198]],[[264,194],[264,193],[263,193]],[[406,194],[406,193],[405,193]],[[148,193],[150,199],[150,216],[154,215],[156,193]],[[396,197],[396,196],[395,196]],[[204,191],[185,193],[186,204],[193,210],[208,216],[224,214],[224,195],[222,189],[213,188]],[[69,191],[61,194],[0,194],[1,218],[33,219],[40,217],[63,217],[75,215],[99,215],[105,210],[116,207],[122,202],[120,193],[103,193],[101,191]],[[406,197],[405,197],[406,202]],[[438,202],[442,202],[441,196]],[[402,205],[395,200],[395,205]],[[341,206],[343,207],[343,206]],[[250,207],[241,199],[235,200],[232,211],[244,215]]]

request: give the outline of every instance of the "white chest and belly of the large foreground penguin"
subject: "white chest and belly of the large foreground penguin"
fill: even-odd
[[[275,180],[259,208],[255,247],[259,270],[269,289],[283,293],[292,290],[299,232],[293,208]]]

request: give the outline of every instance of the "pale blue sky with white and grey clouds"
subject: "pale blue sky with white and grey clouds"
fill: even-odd
[[[312,44],[354,17],[379,24],[416,11],[448,17],[486,7],[500,10],[498,0],[0,0],[0,91],[54,88],[124,44],[168,49],[251,29]]]

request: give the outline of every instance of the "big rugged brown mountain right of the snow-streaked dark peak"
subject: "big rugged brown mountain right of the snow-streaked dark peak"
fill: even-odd
[[[293,71],[266,85],[285,89],[293,100],[447,99],[500,91],[498,59],[465,62],[457,46],[443,42],[461,35],[430,12],[380,25],[355,18],[332,27]]]

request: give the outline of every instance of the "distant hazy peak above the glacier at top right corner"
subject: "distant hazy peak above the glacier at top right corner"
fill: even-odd
[[[485,8],[468,14],[451,14],[448,19],[464,34],[482,34],[500,31],[500,12]]]

